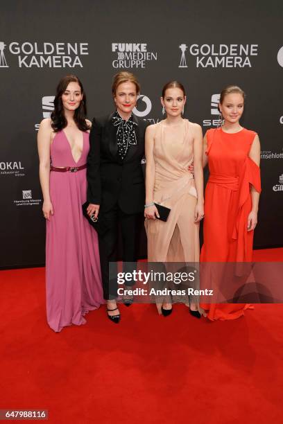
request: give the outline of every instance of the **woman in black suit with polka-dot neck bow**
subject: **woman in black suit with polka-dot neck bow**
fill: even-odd
[[[117,279],[110,281],[108,264],[116,260],[117,223],[121,223],[123,261],[135,262],[135,227],[137,216],[144,211],[141,159],[147,124],[132,114],[139,90],[139,82],[132,73],[117,73],[112,85],[117,110],[103,118],[94,118],[89,135],[87,212],[95,217],[99,214],[108,228],[98,235],[98,241],[103,297],[108,301],[108,317],[115,323],[120,321]]]

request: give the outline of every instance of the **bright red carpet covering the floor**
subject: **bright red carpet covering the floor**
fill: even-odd
[[[255,251],[283,260],[283,249]],[[49,423],[282,423],[283,308],[235,321],[185,306],[121,306],[121,324],[90,312],[53,333],[44,269],[2,271],[0,409],[49,409]],[[31,422],[31,421],[26,421]]]

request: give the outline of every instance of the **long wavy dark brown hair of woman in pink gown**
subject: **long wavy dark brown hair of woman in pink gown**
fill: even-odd
[[[83,99],[81,100],[79,107],[75,110],[74,121],[80,131],[87,131],[89,129],[85,122],[85,118],[87,116],[87,98],[85,96],[85,91],[83,90],[83,84],[75,75],[67,75],[60,80],[56,90],[54,110],[51,113],[51,127],[54,132],[61,131],[63,128],[67,127],[67,119],[65,117],[62,103],[62,94],[67,89],[70,82],[77,82],[83,94]]]

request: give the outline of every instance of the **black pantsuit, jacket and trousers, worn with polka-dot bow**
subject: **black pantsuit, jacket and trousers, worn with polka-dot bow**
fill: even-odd
[[[87,200],[99,204],[99,216],[107,223],[108,231],[98,236],[101,256],[101,276],[104,299],[116,299],[117,279],[109,279],[109,262],[116,260],[118,222],[121,224],[123,261],[134,262],[135,224],[144,211],[145,186],[141,169],[144,157],[146,122],[132,116],[137,144],[130,145],[121,159],[117,146],[114,114],[92,121],[87,158]],[[130,283],[128,283],[130,285]]]

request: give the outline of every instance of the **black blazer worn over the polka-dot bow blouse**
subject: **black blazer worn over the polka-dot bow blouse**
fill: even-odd
[[[89,154],[87,157],[87,200],[100,204],[100,211],[109,211],[119,204],[125,213],[144,211],[145,186],[141,168],[144,157],[144,133],[148,123],[133,115],[136,145],[130,145],[126,157],[119,157],[117,129],[112,117],[104,116],[92,121],[89,134]]]

